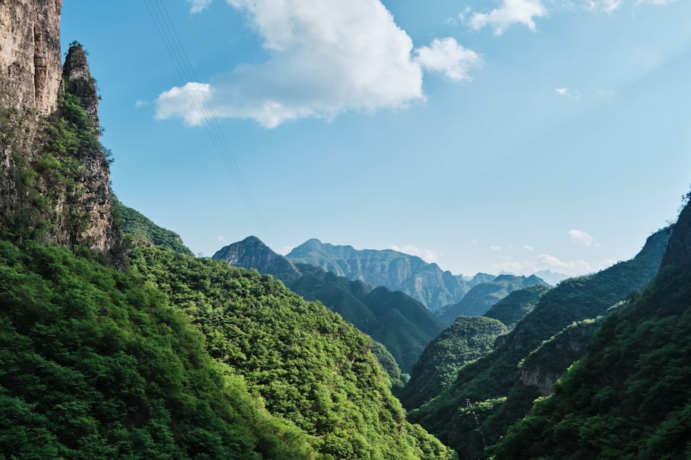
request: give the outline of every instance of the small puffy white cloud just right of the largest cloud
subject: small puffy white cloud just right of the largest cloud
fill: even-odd
[[[424,69],[442,73],[455,81],[470,81],[468,69],[482,63],[479,54],[460,46],[453,38],[434,39],[432,46],[417,48],[415,54]]]

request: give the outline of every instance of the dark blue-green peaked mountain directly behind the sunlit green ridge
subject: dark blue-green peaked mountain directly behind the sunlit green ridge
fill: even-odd
[[[403,292],[372,288],[316,266],[292,263],[256,237],[232,243],[216,252],[212,259],[272,274],[306,300],[321,301],[382,343],[406,374],[443,329],[422,303]]]

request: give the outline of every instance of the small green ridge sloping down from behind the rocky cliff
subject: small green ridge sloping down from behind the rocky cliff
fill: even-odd
[[[141,212],[124,206],[117,198],[113,197],[113,214],[120,223],[124,234],[142,239],[154,246],[170,248],[180,254],[193,255],[192,251],[184,246],[180,235],[171,230],[157,226],[151,219]]]

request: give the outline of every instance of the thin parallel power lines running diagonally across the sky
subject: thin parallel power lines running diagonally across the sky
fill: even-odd
[[[171,61],[173,61],[173,66],[175,66],[178,76],[182,80],[182,85],[184,86],[187,83],[199,81],[163,1],[144,0],[144,5],[149,11],[149,16],[154,23],[159,37],[163,41]],[[229,143],[223,131],[220,129],[213,111],[209,107],[208,101],[197,91],[191,91],[191,97],[196,110],[201,114],[202,125],[207,131],[216,152],[218,152],[223,166],[235,183],[238,194],[240,194],[240,198],[245,203],[254,223],[256,223],[259,230],[263,232],[270,241],[274,242],[272,232],[269,230],[263,214],[252,196],[252,192],[249,190],[247,181],[245,181],[243,177],[240,167],[230,149]]]

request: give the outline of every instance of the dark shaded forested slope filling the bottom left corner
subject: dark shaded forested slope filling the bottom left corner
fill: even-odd
[[[0,457],[310,459],[152,283],[0,241]]]

